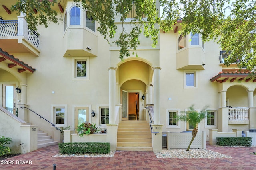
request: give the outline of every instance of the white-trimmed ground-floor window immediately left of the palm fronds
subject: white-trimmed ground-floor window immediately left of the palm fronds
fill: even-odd
[[[178,115],[180,109],[166,109],[166,128],[180,128]]]

